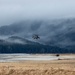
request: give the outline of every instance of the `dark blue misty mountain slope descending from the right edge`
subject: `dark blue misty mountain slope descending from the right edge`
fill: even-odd
[[[57,26],[56,34],[47,44],[75,50],[75,19],[68,19]]]

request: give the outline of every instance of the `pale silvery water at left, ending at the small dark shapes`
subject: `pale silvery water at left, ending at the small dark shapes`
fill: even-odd
[[[51,55],[33,54],[0,54],[0,62],[26,61],[26,60],[57,60],[58,57]]]

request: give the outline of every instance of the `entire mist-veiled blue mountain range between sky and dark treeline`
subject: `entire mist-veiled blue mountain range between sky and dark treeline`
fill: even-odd
[[[40,36],[39,40],[32,38],[33,34]],[[75,19],[22,21],[0,27],[0,36],[10,36],[11,40],[19,36],[26,40],[36,41],[49,46],[75,50]],[[25,40],[25,41],[26,41]],[[15,40],[14,40],[15,41]],[[19,38],[17,43],[27,43]]]

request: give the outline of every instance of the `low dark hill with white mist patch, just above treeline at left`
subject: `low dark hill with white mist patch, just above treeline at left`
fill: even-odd
[[[29,41],[25,38],[22,38],[22,37],[18,37],[18,36],[11,36],[11,37],[8,37],[7,39],[0,39],[0,44],[3,44],[3,45],[10,45],[10,44],[22,44],[22,45],[36,45],[36,44],[39,44],[37,42],[32,42],[32,41]]]

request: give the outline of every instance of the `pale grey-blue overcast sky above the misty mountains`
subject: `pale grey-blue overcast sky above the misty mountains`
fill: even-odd
[[[26,19],[75,17],[75,0],[0,0],[0,26]]]

